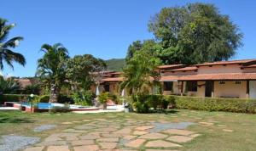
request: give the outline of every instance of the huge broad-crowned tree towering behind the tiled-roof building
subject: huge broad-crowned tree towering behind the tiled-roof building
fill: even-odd
[[[212,4],[162,8],[148,28],[160,42],[158,56],[165,64],[227,60],[242,45],[237,25]]]

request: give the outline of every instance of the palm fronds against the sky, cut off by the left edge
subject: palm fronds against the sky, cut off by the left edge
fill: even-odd
[[[14,69],[13,62],[25,65],[26,59],[20,53],[15,53],[12,48],[16,48],[19,42],[23,40],[21,36],[15,36],[9,40],[9,31],[15,27],[15,24],[7,25],[7,20],[0,18],[0,70],[3,70],[3,62],[8,64],[12,69]]]

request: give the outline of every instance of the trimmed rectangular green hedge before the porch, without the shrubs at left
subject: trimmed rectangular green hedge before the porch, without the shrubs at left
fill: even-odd
[[[198,98],[165,96],[177,109],[256,113],[256,100],[245,98]],[[174,100],[174,101],[173,101]]]

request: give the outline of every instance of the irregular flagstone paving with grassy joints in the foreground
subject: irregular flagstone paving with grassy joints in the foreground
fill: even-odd
[[[80,122],[79,126],[73,126]],[[159,122],[160,125],[155,125]],[[161,129],[168,121],[146,120],[82,120],[68,121],[70,125],[61,133],[53,133],[43,142],[37,143],[26,151],[97,151],[97,150],[179,150],[184,143],[199,137],[196,131],[181,129]],[[164,126],[165,127],[165,126]],[[167,126],[166,126],[167,127]],[[150,131],[154,128],[161,131]]]

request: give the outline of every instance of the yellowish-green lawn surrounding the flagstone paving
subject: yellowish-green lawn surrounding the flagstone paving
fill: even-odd
[[[61,125],[61,122],[79,121],[84,119],[122,120],[168,120],[170,122],[205,121],[214,123],[213,126],[194,125],[189,130],[198,131],[201,137],[190,143],[184,143],[182,150],[255,150],[256,148],[256,115],[236,114],[226,112],[205,112],[178,109],[164,114],[27,114],[19,111],[1,111],[0,135],[15,134],[25,136],[47,137],[53,132],[60,132],[70,128],[70,125]],[[56,124],[58,128],[41,133],[33,132],[33,128],[44,124]],[[77,124],[81,125],[81,124]],[[234,130],[224,132],[223,129]]]

